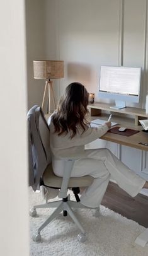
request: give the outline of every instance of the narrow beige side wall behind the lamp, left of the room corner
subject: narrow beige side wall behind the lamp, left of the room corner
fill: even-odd
[[[28,108],[42,104],[45,81],[33,78],[33,60],[46,59],[45,1],[26,0]]]

